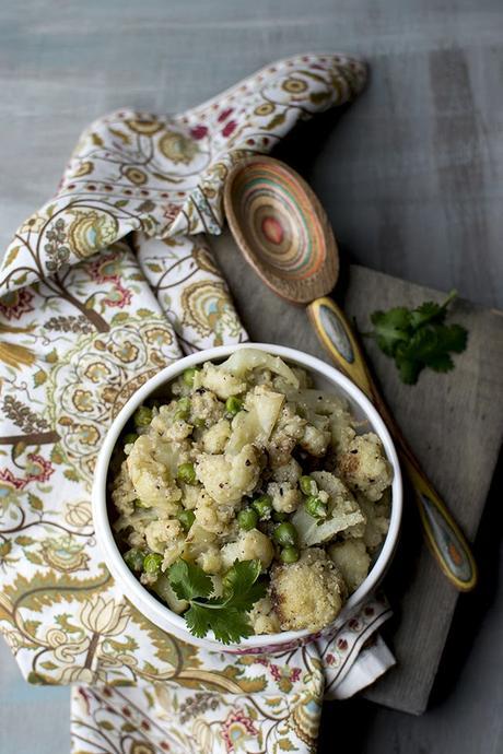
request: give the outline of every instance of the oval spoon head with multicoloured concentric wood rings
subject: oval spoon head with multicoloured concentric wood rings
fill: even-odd
[[[245,259],[292,304],[325,296],[339,276],[339,250],[319,199],[285,163],[241,160],[225,181],[224,208]]]

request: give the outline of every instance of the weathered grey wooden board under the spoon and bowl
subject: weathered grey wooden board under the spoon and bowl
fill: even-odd
[[[302,308],[274,296],[248,272],[232,238],[213,244],[255,341],[292,345],[325,358]],[[369,314],[443,295],[352,266],[340,281],[340,301],[369,328]],[[346,295],[344,295],[346,294]],[[454,316],[453,316],[454,320]],[[455,321],[469,330],[468,349],[448,375],[423,373],[417,386],[400,384],[393,362],[375,345],[367,352],[384,393],[434,485],[472,539],[482,515],[498,459],[503,427],[503,316],[465,301]],[[398,665],[365,694],[366,698],[412,714],[424,711],[447,638],[458,593],[431,557],[420,533],[414,504],[406,500],[403,534],[386,591],[396,609],[387,632]]]

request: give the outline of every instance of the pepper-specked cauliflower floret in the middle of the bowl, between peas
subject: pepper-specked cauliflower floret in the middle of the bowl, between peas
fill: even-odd
[[[260,475],[259,461],[255,447],[245,445],[236,456],[201,453],[196,473],[217,503],[232,505],[256,487]]]

